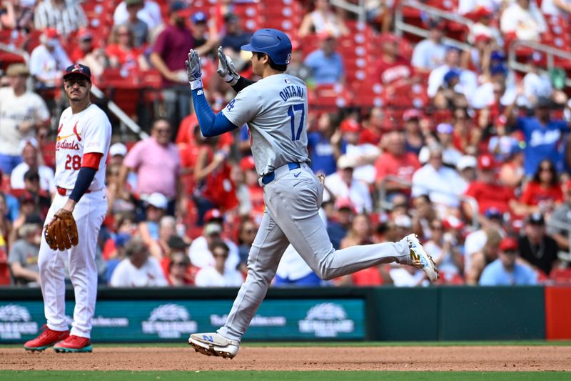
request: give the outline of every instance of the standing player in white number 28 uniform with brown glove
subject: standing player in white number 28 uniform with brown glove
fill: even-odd
[[[111,123],[89,100],[91,71],[75,64],[66,69],[64,89],[70,107],[59,119],[56,140],[57,194],[44,227],[39,251],[41,293],[47,327],[26,350],[91,352],[91,320],[97,294],[96,239],[107,212],[105,162]],[[69,331],[65,304],[65,264],[76,305]]]

